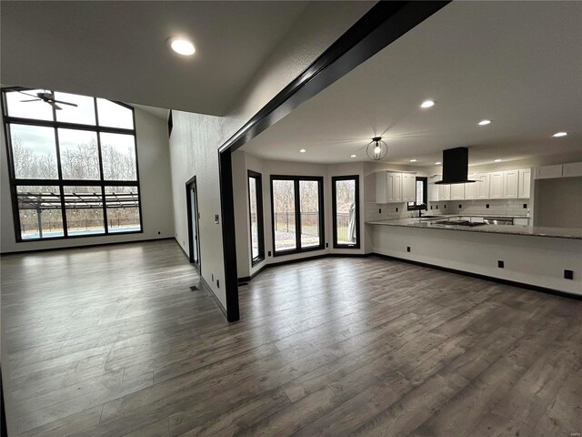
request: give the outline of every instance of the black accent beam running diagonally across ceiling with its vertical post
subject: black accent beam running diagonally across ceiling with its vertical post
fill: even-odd
[[[448,3],[449,1],[378,2],[218,149],[226,311],[229,321],[239,318],[235,208],[230,154]],[[233,308],[229,309],[229,305]]]

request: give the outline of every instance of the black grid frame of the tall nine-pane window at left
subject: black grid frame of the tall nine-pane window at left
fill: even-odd
[[[126,107],[132,112],[132,118],[134,122],[133,129],[126,129],[123,127],[102,127],[99,126],[99,115],[97,112],[97,97],[93,98],[93,103],[95,107],[95,126],[85,125],[80,123],[71,123],[56,120],[56,109],[53,107],[53,119],[52,120],[37,120],[34,118],[24,118],[24,117],[10,117],[8,116],[8,108],[6,103],[6,93],[14,91],[30,91],[35,88],[28,88],[23,86],[7,86],[0,88],[2,94],[2,104],[0,105],[2,109],[2,119],[3,128],[6,141],[6,155],[7,155],[7,166],[8,166],[8,178],[10,183],[10,198],[12,201],[12,216],[15,227],[15,241],[16,243],[26,243],[35,241],[46,241],[46,240],[58,240],[58,239],[85,239],[91,237],[105,237],[107,235],[125,235],[125,234],[140,234],[144,233],[144,219],[142,214],[142,190],[140,187],[139,180],[139,158],[137,155],[137,134],[135,131],[135,109],[123,102],[118,102],[115,100],[110,100],[112,103]],[[55,92],[54,90],[51,90]],[[58,91],[56,91],[58,92]],[[57,178],[55,179],[36,179],[36,178],[15,178],[15,163],[14,155],[12,151],[12,136],[10,135],[10,125],[26,125],[26,126],[36,126],[36,127],[50,127],[55,132],[55,153],[56,153],[56,166],[57,166]],[[58,137],[58,129],[72,129],[72,130],[85,130],[90,132],[95,132],[97,138],[97,149],[99,157],[99,179],[64,179],[63,171],[61,165],[61,153]],[[135,151],[135,180],[105,180],[103,173],[103,158],[101,154],[101,133],[112,133],[112,134],[125,134],[134,137],[134,151]],[[50,186],[59,188],[59,196],[61,198],[61,214],[63,219],[63,235],[58,237],[45,237],[38,239],[23,239],[22,230],[20,223],[20,209],[18,208],[18,186]],[[104,232],[98,234],[87,234],[87,235],[68,235],[68,224],[66,221],[66,208],[65,208],[65,195],[64,187],[99,187],[101,188],[101,201],[103,203],[103,219],[104,219]],[[107,202],[105,198],[105,188],[106,187],[135,187],[137,188],[137,208],[139,211],[139,230],[125,230],[125,231],[113,231],[109,232],[109,225],[107,222]]]

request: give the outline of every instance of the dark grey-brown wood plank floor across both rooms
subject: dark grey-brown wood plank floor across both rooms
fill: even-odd
[[[582,432],[582,302],[377,258],[265,270],[226,323],[174,241],[2,258],[11,435]]]

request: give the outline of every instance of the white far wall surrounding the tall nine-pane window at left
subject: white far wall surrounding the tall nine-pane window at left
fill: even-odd
[[[0,169],[0,178],[2,180],[0,191],[0,202],[2,204],[0,212],[0,250],[2,253],[173,237],[172,198],[168,195],[170,193],[170,166],[166,120],[149,114],[142,109],[135,108],[135,132],[144,232],[16,243],[8,178],[8,161],[6,158],[4,129],[2,129],[2,147],[0,147],[2,149]]]

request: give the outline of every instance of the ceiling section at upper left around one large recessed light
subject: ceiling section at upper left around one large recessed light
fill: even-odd
[[[307,3],[2,1],[2,82],[224,115]]]

